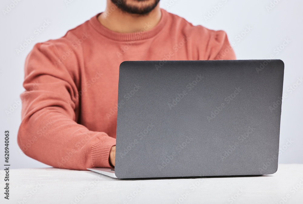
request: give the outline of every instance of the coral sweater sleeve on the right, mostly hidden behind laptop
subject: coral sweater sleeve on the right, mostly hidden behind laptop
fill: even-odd
[[[236,60],[225,31],[214,31],[210,36],[208,60]]]

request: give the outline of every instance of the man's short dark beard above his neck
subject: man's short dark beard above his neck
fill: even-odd
[[[152,4],[145,6],[127,5],[127,0],[111,0],[118,8],[130,14],[147,14],[152,11],[159,3],[160,0],[154,0]],[[146,2],[148,0],[135,0],[137,2]],[[119,4],[120,3],[120,4]]]

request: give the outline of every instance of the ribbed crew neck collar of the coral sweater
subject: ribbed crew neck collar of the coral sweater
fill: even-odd
[[[147,31],[135,33],[118,33],[116,31],[109,30],[98,21],[98,15],[100,14],[101,13],[92,17],[89,22],[92,24],[93,28],[95,28],[100,34],[117,41],[145,40],[154,37],[162,30],[162,28],[164,28],[168,19],[168,12],[161,8],[161,19],[154,28]]]

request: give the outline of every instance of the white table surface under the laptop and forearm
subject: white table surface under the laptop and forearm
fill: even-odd
[[[92,171],[12,169],[9,200],[0,174],[0,203],[303,203],[303,164],[279,164],[264,176],[132,180]]]

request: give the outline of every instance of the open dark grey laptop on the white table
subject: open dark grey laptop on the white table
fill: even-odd
[[[119,179],[264,175],[278,169],[281,60],[124,61]]]

